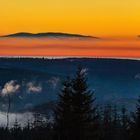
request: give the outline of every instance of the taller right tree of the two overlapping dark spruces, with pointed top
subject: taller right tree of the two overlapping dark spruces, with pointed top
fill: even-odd
[[[87,71],[78,68],[72,81],[72,109],[75,139],[97,139],[98,119],[93,91],[87,84]]]

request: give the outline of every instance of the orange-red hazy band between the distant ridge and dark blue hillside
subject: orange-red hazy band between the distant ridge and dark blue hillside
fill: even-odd
[[[140,57],[140,40],[1,38],[2,56]]]

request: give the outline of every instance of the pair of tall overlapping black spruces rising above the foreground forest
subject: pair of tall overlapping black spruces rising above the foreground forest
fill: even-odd
[[[55,111],[59,140],[97,139],[97,114],[93,92],[88,89],[86,71],[79,68],[73,79],[63,83]]]

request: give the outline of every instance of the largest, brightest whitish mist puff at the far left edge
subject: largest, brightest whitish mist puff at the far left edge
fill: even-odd
[[[1,95],[6,96],[8,94],[16,93],[20,89],[20,85],[17,84],[17,81],[11,80],[7,82],[3,89],[1,90]]]

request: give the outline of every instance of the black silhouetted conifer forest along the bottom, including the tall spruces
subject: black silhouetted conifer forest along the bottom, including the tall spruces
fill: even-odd
[[[0,128],[0,140],[138,140],[140,139],[140,98],[135,113],[116,105],[98,107],[87,84],[86,71],[77,70],[62,84],[53,122],[40,114],[25,127],[15,120],[13,127]]]

